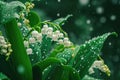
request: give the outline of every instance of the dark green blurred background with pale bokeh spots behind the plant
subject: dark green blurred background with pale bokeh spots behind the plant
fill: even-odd
[[[100,55],[111,70],[111,76],[104,76],[104,80],[120,80],[120,0],[34,0],[33,3],[42,20],[52,21],[72,14],[62,28],[75,44],[117,32],[118,37],[110,37]]]

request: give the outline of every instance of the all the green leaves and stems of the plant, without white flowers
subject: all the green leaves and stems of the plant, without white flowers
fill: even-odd
[[[80,46],[71,43],[69,47],[66,47],[65,43],[61,45],[47,35],[42,34],[41,42],[30,43],[29,41],[30,45],[28,47],[33,50],[33,54],[28,56],[23,42],[31,37],[36,39],[31,33],[33,30],[40,33],[41,23],[43,25],[48,24],[53,27],[53,31],[59,30],[64,34],[64,37],[67,37],[60,26],[71,15],[53,22],[41,22],[35,12],[28,12],[25,17],[30,21],[29,23],[29,21],[26,22],[25,17],[16,19],[15,14],[19,12],[18,7],[25,8],[25,5],[18,1],[10,3],[0,1],[0,16],[2,16],[0,23],[4,26],[6,39],[12,44],[13,50],[7,61],[5,61],[5,56],[1,57],[3,55],[0,55],[0,60],[5,62],[1,64],[0,72],[6,74],[12,80],[95,80],[85,75],[87,75],[93,62],[99,57],[105,40],[110,35],[116,35],[115,32],[95,37]],[[22,28],[18,27],[20,22]],[[7,68],[5,71],[2,70],[4,66]],[[10,73],[7,74],[7,72]]]

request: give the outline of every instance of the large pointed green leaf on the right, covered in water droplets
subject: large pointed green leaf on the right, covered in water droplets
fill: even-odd
[[[73,67],[79,72],[81,78],[84,77],[92,63],[97,59],[105,40],[110,35],[116,35],[116,33],[106,33],[98,36],[81,45],[79,51],[75,49],[78,53],[75,53],[72,57],[74,59]]]

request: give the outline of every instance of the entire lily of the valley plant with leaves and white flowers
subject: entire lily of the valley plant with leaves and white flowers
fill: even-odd
[[[0,1],[0,80],[97,80],[95,70],[110,76],[99,53],[115,32],[75,45],[61,28],[71,15],[41,21],[34,6]]]

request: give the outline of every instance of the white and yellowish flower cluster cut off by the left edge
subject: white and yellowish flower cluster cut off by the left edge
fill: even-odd
[[[0,36],[0,54],[9,56],[11,52],[11,44],[9,42],[6,42],[3,36]]]

